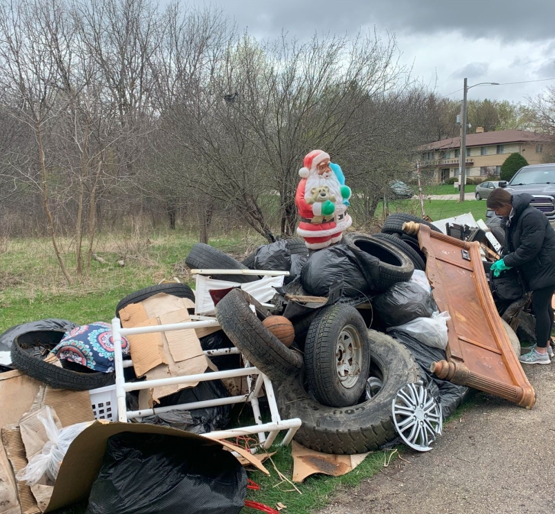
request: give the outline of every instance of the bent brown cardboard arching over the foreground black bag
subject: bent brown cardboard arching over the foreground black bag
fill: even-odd
[[[83,430],[70,445],[68,453],[65,454],[61,463],[58,478],[54,485],[54,492],[46,512],[55,511],[57,508],[88,497],[92,482],[94,482],[101,468],[108,439],[112,435],[123,432],[174,435],[178,438],[198,440],[201,444],[221,444],[226,449],[236,451],[250,464],[270,475],[263,464],[254,458],[254,455],[227,441],[213,441],[203,438],[201,435],[171,429],[168,426],[97,421]],[[214,462],[214,466],[217,465],[218,463]]]

